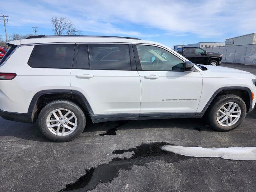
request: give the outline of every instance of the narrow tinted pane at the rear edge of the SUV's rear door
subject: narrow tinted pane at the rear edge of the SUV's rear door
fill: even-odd
[[[89,69],[87,44],[78,44],[76,68]]]

